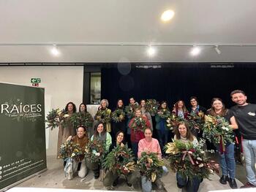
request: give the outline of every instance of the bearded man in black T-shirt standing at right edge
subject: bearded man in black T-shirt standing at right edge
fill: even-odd
[[[241,90],[232,91],[230,96],[237,104],[231,110],[233,110],[238,129],[243,137],[247,183],[241,188],[256,188],[256,104],[247,103],[247,96]]]

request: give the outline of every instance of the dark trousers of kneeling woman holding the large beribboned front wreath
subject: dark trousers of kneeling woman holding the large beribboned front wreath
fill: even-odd
[[[187,176],[183,177],[178,172],[176,174],[176,179],[177,179],[177,184],[180,185],[180,187],[186,188],[187,192],[197,192],[200,183],[203,181],[203,179],[200,179],[197,176],[193,177],[192,181],[188,180]]]

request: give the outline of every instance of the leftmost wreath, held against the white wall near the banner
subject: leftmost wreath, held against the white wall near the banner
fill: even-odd
[[[59,109],[51,110],[46,116],[45,123],[48,123],[46,128],[51,128],[51,130],[61,126],[64,123],[64,111]]]

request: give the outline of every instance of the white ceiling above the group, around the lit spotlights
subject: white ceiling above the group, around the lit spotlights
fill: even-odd
[[[166,9],[175,17],[159,19]],[[157,47],[148,58],[143,46],[12,46],[37,43],[184,43],[256,45],[255,0],[1,0],[0,62],[255,62],[256,46]]]

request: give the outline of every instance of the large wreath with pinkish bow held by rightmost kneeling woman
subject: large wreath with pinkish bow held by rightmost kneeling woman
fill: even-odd
[[[182,142],[175,140],[165,145],[165,153],[167,153],[167,160],[170,162],[170,169],[173,172],[179,172],[184,177],[192,180],[192,177],[207,178],[214,172],[211,166],[211,161],[205,155],[203,148],[203,141],[197,145],[192,142]]]

